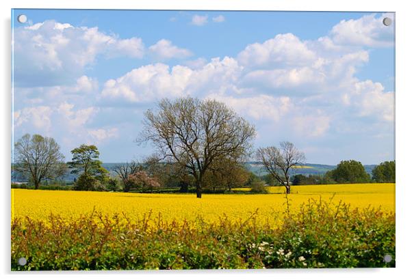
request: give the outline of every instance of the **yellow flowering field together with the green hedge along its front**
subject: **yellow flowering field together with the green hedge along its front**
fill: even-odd
[[[395,266],[394,184],[270,191],[12,189],[12,270]]]

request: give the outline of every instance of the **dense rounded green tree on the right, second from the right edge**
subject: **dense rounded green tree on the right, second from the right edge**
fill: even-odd
[[[365,167],[356,160],[342,160],[335,169],[328,171],[326,175],[339,184],[370,182],[370,176],[366,173]]]

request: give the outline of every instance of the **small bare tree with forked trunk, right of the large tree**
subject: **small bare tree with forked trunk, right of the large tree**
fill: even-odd
[[[290,193],[289,172],[293,167],[305,163],[305,154],[298,151],[293,143],[283,141],[281,148],[259,148],[256,156],[265,169],[285,186],[286,193]]]

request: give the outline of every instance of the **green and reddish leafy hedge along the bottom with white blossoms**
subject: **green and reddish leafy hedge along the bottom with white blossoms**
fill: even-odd
[[[394,214],[320,201],[288,209],[281,225],[259,224],[253,215],[217,223],[150,213],[137,221],[96,212],[72,222],[16,219],[12,270],[395,267]]]

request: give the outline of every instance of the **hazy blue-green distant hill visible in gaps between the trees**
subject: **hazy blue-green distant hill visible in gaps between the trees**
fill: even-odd
[[[114,175],[114,167],[116,165],[121,165],[122,163],[103,163],[102,166],[105,167],[112,175]],[[252,171],[257,176],[266,175],[268,172],[263,168],[263,165],[257,161],[249,161],[245,163],[246,169]],[[366,172],[372,175],[372,169],[376,167],[376,165],[363,165],[365,167]],[[302,175],[322,175],[329,170],[335,169],[336,165],[319,165],[315,163],[306,163],[304,166],[300,168],[295,168],[292,171],[292,175],[302,174]],[[66,182],[73,182],[77,178],[77,175],[66,173],[63,180]],[[24,182],[24,179],[21,178],[21,174],[18,172],[12,172],[12,182]]]

